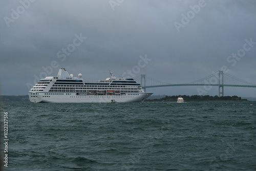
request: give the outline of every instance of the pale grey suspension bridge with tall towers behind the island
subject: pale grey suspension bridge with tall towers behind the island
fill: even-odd
[[[209,87],[218,86],[219,96],[224,96],[224,87],[256,88],[256,84],[241,80],[223,71],[218,71],[216,73],[213,73],[197,81],[181,83],[181,84],[172,84],[168,82],[162,82],[143,74],[138,76],[135,80],[141,84],[144,91],[147,88],[158,88],[158,87],[204,86],[204,89],[201,89],[200,91],[207,92]],[[206,88],[206,86],[208,86],[208,88]]]

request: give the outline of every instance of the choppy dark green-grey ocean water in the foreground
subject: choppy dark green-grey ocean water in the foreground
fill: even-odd
[[[5,170],[256,170],[255,101],[5,102],[2,124],[4,112]]]

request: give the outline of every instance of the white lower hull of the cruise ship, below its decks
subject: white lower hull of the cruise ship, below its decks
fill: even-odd
[[[126,95],[76,95],[75,93],[66,95],[44,95],[45,93],[38,93],[38,95],[30,96],[31,102],[46,102],[46,103],[90,103],[90,102],[143,102],[147,97],[153,93],[127,93]],[[53,93],[54,94],[54,93]]]

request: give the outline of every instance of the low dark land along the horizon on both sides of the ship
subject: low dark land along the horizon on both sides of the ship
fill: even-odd
[[[178,97],[181,96],[185,101],[210,101],[210,100],[249,100],[256,101],[255,97],[238,97],[238,96],[187,96],[187,95],[178,95],[178,96],[167,96],[167,95],[153,95],[150,96],[146,101],[177,101]],[[0,101],[29,101],[29,95],[24,96],[0,96]]]

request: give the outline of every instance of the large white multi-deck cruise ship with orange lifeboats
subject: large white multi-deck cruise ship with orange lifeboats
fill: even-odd
[[[40,79],[29,91],[31,102],[84,103],[84,102],[143,102],[153,93],[145,93],[133,78],[111,77],[99,81],[74,77],[65,68],[57,76]]]

